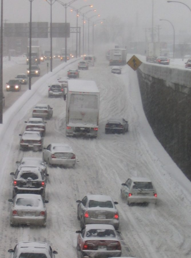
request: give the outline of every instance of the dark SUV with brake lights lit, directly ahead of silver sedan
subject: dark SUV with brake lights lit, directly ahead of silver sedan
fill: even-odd
[[[16,172],[11,172],[13,177],[13,198],[17,193],[40,194],[45,200],[46,179],[38,167],[21,167]]]

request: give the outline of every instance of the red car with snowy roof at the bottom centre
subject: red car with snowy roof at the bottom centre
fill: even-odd
[[[88,224],[76,233],[80,257],[121,257],[121,244],[114,226]]]

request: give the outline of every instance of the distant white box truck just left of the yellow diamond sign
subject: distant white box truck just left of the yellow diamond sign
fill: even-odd
[[[110,49],[110,65],[124,65],[126,64],[126,58],[126,48]]]

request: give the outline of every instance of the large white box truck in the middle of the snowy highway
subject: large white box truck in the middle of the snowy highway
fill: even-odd
[[[68,80],[66,135],[96,138],[99,124],[100,91],[95,81]]]

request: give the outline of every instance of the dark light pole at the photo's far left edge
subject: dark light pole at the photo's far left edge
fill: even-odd
[[[3,124],[3,0],[1,0],[0,124]]]

